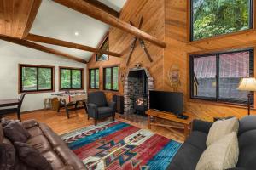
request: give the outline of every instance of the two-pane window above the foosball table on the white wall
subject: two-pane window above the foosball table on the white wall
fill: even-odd
[[[84,69],[60,67],[60,89],[82,89]]]

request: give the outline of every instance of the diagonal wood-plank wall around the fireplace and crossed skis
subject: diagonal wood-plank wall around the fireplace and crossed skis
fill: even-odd
[[[146,31],[160,40],[165,39],[165,0],[128,0],[123,8],[120,19],[128,22],[131,20],[136,26],[139,24],[140,17],[143,16],[142,30]],[[142,63],[143,67],[147,67],[154,79],[154,86],[157,89],[164,88],[163,86],[163,60],[164,49],[159,48],[151,43],[145,42],[154,62],[150,63],[147,55],[144,54],[137,41],[134,53],[131,56],[130,64],[126,66],[126,58],[130,53],[131,43],[134,36],[121,31],[118,28],[111,28],[109,31],[109,50],[123,54],[121,58],[109,57],[108,61],[96,62],[95,57],[90,59],[88,68],[100,68],[100,90],[103,89],[103,68],[110,65],[119,65],[119,67],[128,68],[134,67],[137,63]],[[89,87],[89,86],[88,86]],[[92,91],[89,89],[89,91]],[[108,99],[112,98],[113,94],[123,94],[123,85],[119,81],[119,92],[105,91]]]

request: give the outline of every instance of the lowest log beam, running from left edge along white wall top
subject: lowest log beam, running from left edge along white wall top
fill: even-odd
[[[39,45],[38,43],[29,42],[29,41],[26,41],[26,40],[15,38],[15,37],[6,37],[6,36],[0,36],[0,39],[2,39],[4,41],[7,41],[7,42],[12,42],[12,43],[15,43],[15,44],[19,44],[19,45],[27,47],[27,48],[37,49],[37,50],[43,51],[45,53],[55,54],[55,55],[64,57],[66,59],[73,59],[73,60],[78,61],[80,63],[87,63],[87,61],[85,61],[84,59],[79,59],[78,57],[75,57],[73,55],[65,54],[61,51],[58,51],[58,50],[55,50],[55,49],[52,49],[52,48],[44,47],[42,45]]]

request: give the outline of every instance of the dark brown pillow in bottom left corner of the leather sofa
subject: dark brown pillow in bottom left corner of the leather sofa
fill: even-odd
[[[11,144],[0,144],[0,169],[12,170],[15,167],[15,148]]]

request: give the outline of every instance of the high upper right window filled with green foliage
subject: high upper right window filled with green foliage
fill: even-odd
[[[190,0],[190,40],[253,28],[253,0]]]

